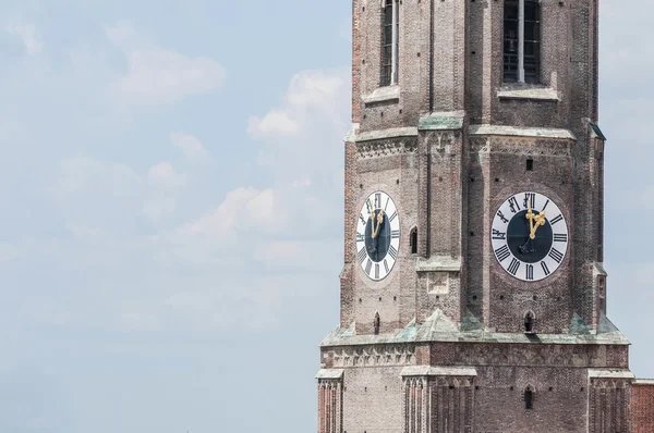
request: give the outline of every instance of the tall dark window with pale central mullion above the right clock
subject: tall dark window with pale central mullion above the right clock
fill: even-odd
[[[541,4],[524,1],[523,35],[520,37],[520,1],[505,0],[504,81],[505,83],[541,82]],[[520,46],[522,45],[522,52]],[[522,58],[522,59],[521,59]],[[521,64],[522,60],[522,64]]]

